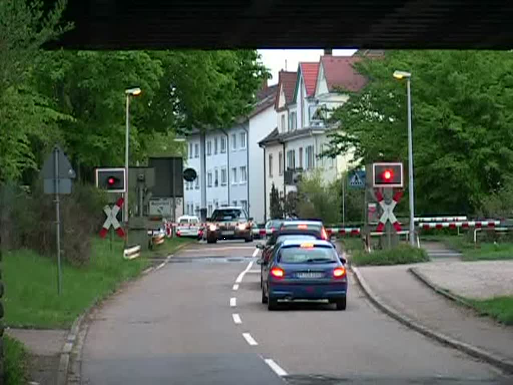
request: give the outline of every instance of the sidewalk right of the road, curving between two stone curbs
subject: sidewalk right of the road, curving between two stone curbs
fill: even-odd
[[[513,328],[487,317],[478,317],[472,310],[437,294],[408,271],[410,267],[427,267],[430,272],[438,270],[450,277],[447,271],[451,263],[472,262],[364,266],[358,270],[372,292],[398,313],[432,331],[513,361]]]

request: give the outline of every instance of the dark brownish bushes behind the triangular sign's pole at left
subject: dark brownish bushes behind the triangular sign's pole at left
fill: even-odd
[[[43,194],[38,180],[31,192],[8,185],[0,190],[3,246],[9,249],[29,248],[42,255],[54,256],[54,197]],[[74,265],[89,261],[91,235],[102,225],[102,208],[106,197],[94,186],[74,183],[72,194],[61,196],[62,256]]]

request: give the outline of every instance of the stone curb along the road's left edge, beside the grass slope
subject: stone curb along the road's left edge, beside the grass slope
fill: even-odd
[[[163,262],[158,266],[152,266],[148,267],[147,269],[143,270],[141,272],[141,275],[137,278],[140,278],[142,276],[148,275],[151,272],[157,271],[160,268],[164,267],[169,260],[174,256],[174,254],[184,248],[185,246],[189,245],[189,243],[183,243],[179,246],[177,246],[173,254],[170,254],[166,257],[166,259],[163,260]],[[134,280],[136,280],[135,278]],[[95,303],[90,306],[84,313],[82,313],[80,316],[78,316],[73,324],[71,325],[70,332],[68,333],[68,337],[66,338],[66,342],[64,343],[64,346],[61,350],[61,360],[59,362],[59,368],[57,373],[57,385],[68,385],[68,384],[80,384],[81,382],[81,363],[82,363],[82,348],[84,344],[85,337],[87,335],[87,332],[89,330],[89,325],[84,325],[84,319],[87,319],[91,316],[93,311],[95,310],[95,307],[98,305],[98,303],[101,303],[111,297],[112,295],[116,294],[119,288],[117,288],[113,293],[108,295],[107,297],[103,298],[102,301],[98,302],[95,301]],[[73,378],[70,378],[70,368],[73,367]]]

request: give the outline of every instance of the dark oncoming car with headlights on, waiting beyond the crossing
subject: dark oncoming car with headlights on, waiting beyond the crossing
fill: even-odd
[[[252,220],[242,207],[216,208],[207,223],[207,242],[215,243],[220,239],[244,239],[251,242]]]

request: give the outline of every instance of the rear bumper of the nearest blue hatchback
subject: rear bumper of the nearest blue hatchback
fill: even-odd
[[[269,297],[274,299],[336,300],[347,295],[347,281],[340,283],[269,283]]]

